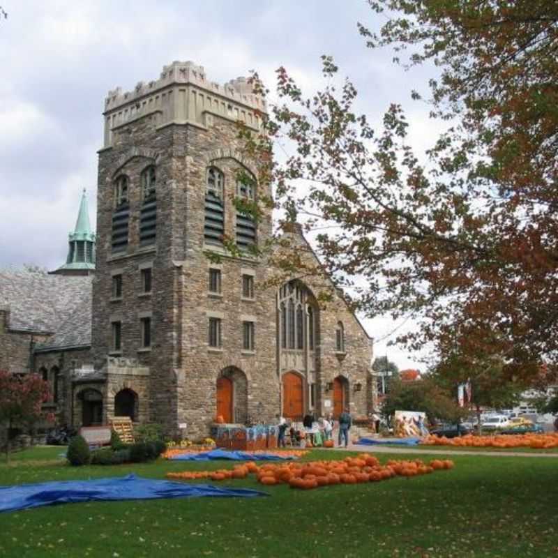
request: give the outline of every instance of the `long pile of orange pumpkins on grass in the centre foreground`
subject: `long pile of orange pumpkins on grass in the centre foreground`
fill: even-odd
[[[429,474],[437,469],[451,468],[453,468],[451,460],[432,460],[428,465],[421,460],[389,460],[386,465],[380,465],[377,458],[364,453],[356,458],[306,463],[265,463],[258,466],[255,462],[249,461],[243,465],[236,465],[233,469],[220,469],[214,472],[167,473],[167,478],[178,480],[209,478],[211,481],[225,481],[255,474],[257,481],[263,485],[288,484],[291,488],[310,490],[327,485],[385,481],[394,476],[411,477]]]

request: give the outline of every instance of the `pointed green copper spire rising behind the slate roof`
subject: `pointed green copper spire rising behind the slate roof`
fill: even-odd
[[[70,232],[68,235],[69,248],[66,264],[52,273],[88,275],[95,271],[95,241],[95,234],[91,231],[89,222],[89,207],[84,188],[74,232]]]

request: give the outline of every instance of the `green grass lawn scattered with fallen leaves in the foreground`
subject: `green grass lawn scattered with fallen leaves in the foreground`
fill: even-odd
[[[0,484],[232,467],[158,460],[68,467],[60,448],[0,464]],[[451,453],[451,452],[448,452]],[[309,459],[345,457],[312,451]],[[416,454],[415,454],[416,455]],[[418,456],[417,456],[418,457]],[[384,462],[402,455],[378,455]],[[428,459],[427,455],[420,458]],[[550,557],[558,552],[558,462],[455,455],[455,469],[261,499],[68,504],[0,514],[7,557]],[[250,478],[223,485],[262,489]]]

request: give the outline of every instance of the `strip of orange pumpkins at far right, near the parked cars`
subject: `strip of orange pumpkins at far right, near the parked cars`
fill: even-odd
[[[428,436],[421,444],[428,446],[458,446],[474,448],[558,448],[558,433],[548,434],[511,434],[496,436],[461,436],[446,438],[444,436]]]

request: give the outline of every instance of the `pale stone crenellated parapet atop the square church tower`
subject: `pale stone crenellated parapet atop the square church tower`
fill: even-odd
[[[158,80],[138,82],[133,91],[121,87],[105,99],[105,148],[112,145],[114,130],[151,116],[156,126],[191,124],[209,128],[213,117],[242,121],[259,130],[266,101],[252,91],[246,77],[224,85],[206,78],[203,66],[174,61],[163,66]]]

